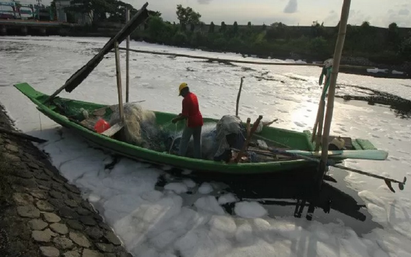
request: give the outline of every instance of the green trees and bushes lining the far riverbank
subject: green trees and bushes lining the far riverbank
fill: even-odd
[[[72,0],[78,4],[71,9],[84,13],[94,12],[93,21],[125,21],[125,8],[131,15],[137,10],[119,0]],[[179,24],[164,21],[159,12],[150,12],[151,17],[144,29],[132,34],[134,40],[144,40],[181,47],[193,47],[211,51],[231,51],[242,54],[257,54],[261,57],[290,58],[297,54],[301,58],[324,60],[332,57],[337,41],[339,25],[324,27],[315,21],[311,26],[287,26],[273,23],[255,26],[249,22],[240,26],[237,22],[218,27],[211,22],[200,21],[201,14],[190,7],[177,5]],[[364,57],[372,62],[401,64],[411,60],[411,34],[400,33],[396,23],[388,29],[370,26],[347,27],[344,56]]]

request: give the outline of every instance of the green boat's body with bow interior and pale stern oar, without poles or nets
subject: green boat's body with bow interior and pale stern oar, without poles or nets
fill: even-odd
[[[299,159],[298,157],[290,157],[287,155],[273,155],[268,151],[249,148],[267,157],[265,162],[240,162],[226,163],[213,160],[194,159],[189,157],[181,157],[166,152],[157,152],[150,149],[145,149],[133,144],[129,144],[116,138],[105,136],[94,131],[91,124],[87,124],[85,120],[70,117],[81,108],[84,108],[89,113],[89,120],[97,121],[99,118],[108,119],[113,113],[109,105],[83,102],[72,99],[56,97],[52,101],[45,104],[48,95],[43,94],[27,83],[14,85],[25,96],[27,96],[44,115],[59,123],[60,125],[75,131],[76,134],[85,139],[94,142],[102,149],[109,150],[122,156],[126,156],[135,160],[152,162],[157,164],[169,165],[181,169],[190,169],[195,171],[206,172],[221,172],[231,174],[257,174],[257,173],[275,173],[280,171],[291,171],[302,168],[314,168],[317,163],[314,161]],[[62,109],[61,106],[65,108]],[[171,113],[155,112],[156,122],[159,126],[170,126],[171,120],[176,116]],[[84,119],[84,118],[83,118]],[[216,123],[217,119],[204,118],[204,124]],[[178,129],[182,129],[183,124],[178,124]],[[173,126],[171,126],[174,128]],[[174,132],[174,130],[173,130]],[[275,149],[288,150],[289,153],[296,153],[310,158],[319,158],[321,152],[313,152],[315,143],[311,143],[311,132],[295,132],[284,130],[271,126],[265,126],[263,130],[255,134],[252,141],[261,140],[268,146]],[[377,150],[372,143],[365,139],[345,139],[344,151],[329,151],[329,158],[340,162],[347,158],[359,159],[374,159],[384,160],[387,153]]]

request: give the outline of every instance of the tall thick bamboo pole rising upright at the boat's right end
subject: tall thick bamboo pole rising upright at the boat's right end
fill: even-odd
[[[324,132],[322,140],[322,155],[318,177],[318,183],[320,187],[323,182],[323,178],[326,172],[326,163],[328,161],[328,137],[330,135],[332,112],[334,108],[335,84],[337,84],[341,54],[344,48],[345,34],[347,32],[347,21],[350,12],[350,4],[351,0],[344,0],[343,7],[341,10],[340,29],[338,33],[337,44],[335,44],[334,60],[332,64],[332,72],[330,78],[330,87],[328,89],[327,113],[325,114]]]

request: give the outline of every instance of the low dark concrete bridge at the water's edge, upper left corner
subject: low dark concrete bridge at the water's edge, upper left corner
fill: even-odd
[[[0,20],[0,35],[52,35],[60,29],[80,26],[65,22],[36,20]]]

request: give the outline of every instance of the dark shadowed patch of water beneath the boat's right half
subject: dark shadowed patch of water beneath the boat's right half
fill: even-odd
[[[197,185],[210,182],[214,187],[211,195],[217,199],[226,193],[233,193],[238,201],[257,201],[268,211],[270,217],[295,217],[323,224],[343,222],[361,236],[377,227],[379,224],[371,221],[364,201],[358,192],[349,189],[344,181],[348,173],[333,168],[319,193],[316,193],[312,177],[314,171],[302,170],[291,173],[273,173],[270,175],[221,175],[201,174],[192,172],[182,174],[181,170],[173,169],[161,176],[157,182],[157,190],[162,190],[169,182],[179,182],[192,179]],[[189,189],[190,190],[190,189]],[[193,194],[197,188],[180,194],[184,203],[192,205]],[[196,196],[199,198],[201,196]],[[222,207],[226,212],[235,215],[235,203],[225,204]],[[195,208],[195,207],[193,207]]]

